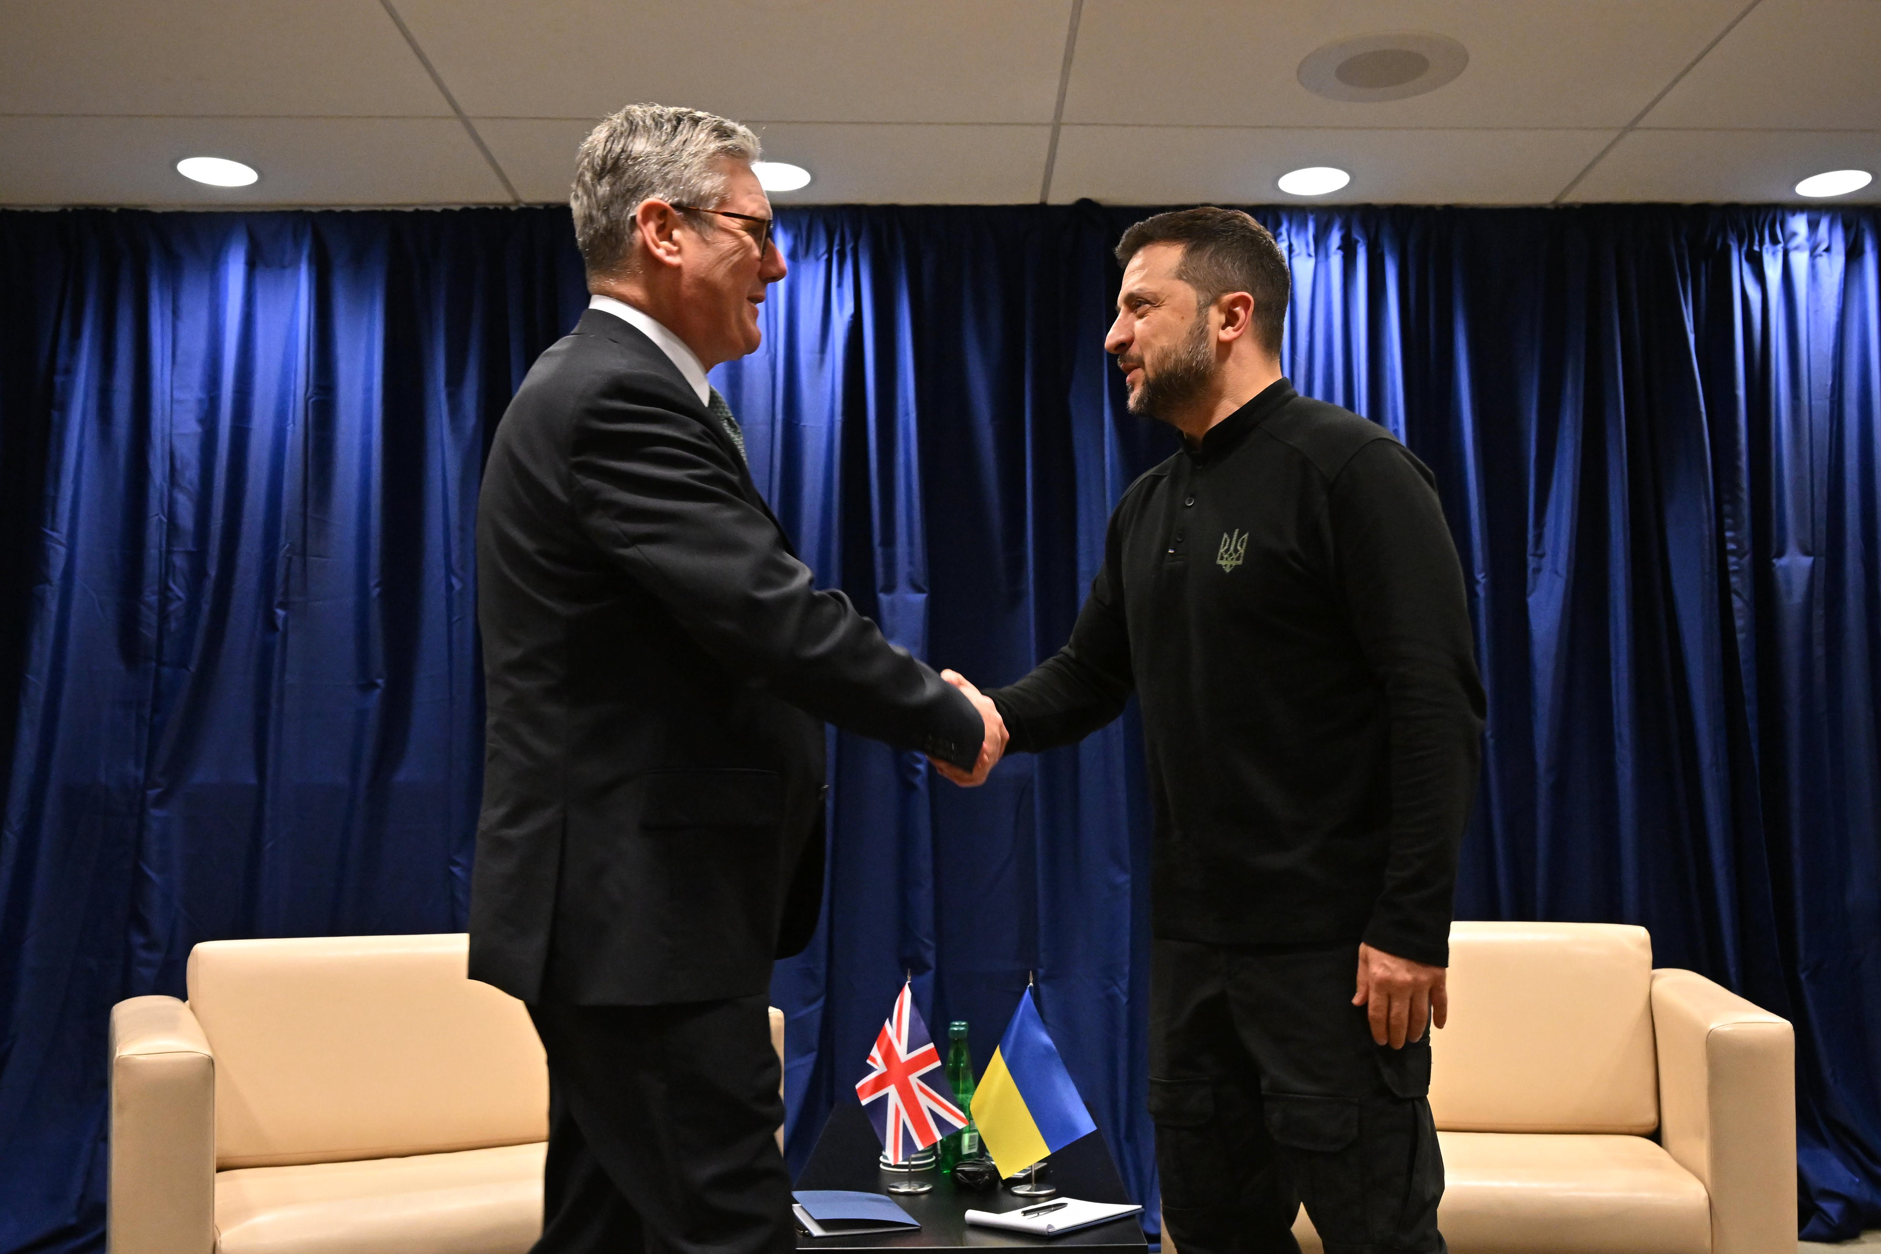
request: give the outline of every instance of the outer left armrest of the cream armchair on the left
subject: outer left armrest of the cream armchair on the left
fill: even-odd
[[[209,1254],[216,1245],[216,1058],[190,1008],[111,1008],[109,1254]]]

